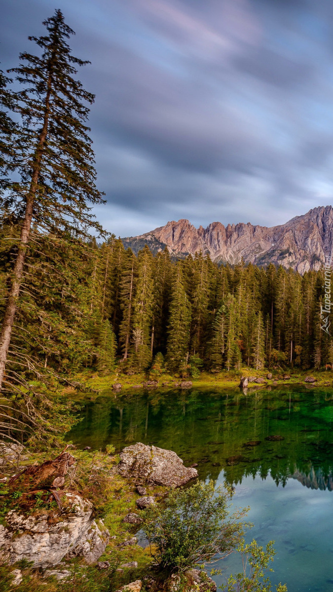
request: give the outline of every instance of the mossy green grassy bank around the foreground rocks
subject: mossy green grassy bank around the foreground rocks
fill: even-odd
[[[1,468],[0,482],[0,523],[6,525],[8,511],[14,510],[33,516],[41,510],[54,512],[50,503],[36,500],[36,503],[27,510],[21,500],[24,499],[24,491],[15,491],[14,495],[8,495],[8,487],[4,477],[10,477],[18,469],[32,464],[41,464],[50,458],[56,458],[60,449],[52,451],[52,455],[46,452],[30,453],[24,449],[21,458],[15,462],[7,462]],[[103,592],[106,590],[118,590],[122,585],[134,580],[149,579],[149,565],[152,558],[148,549],[139,545],[123,546],[126,540],[132,538],[138,530],[137,525],[123,522],[124,517],[130,511],[138,512],[136,499],[139,498],[135,491],[135,485],[117,474],[115,467],[119,458],[106,452],[71,450],[76,463],[73,470],[66,475],[65,491],[78,493],[94,504],[95,520],[103,520],[104,527],[110,532],[110,542],[99,561],[107,561],[110,564],[105,570],[97,566],[87,565],[82,558],[63,559],[61,564],[53,568],[56,571],[66,570],[68,578],[57,580],[55,575],[44,577],[41,570],[34,569],[26,561],[19,561],[15,565],[0,567],[0,590],[9,592],[15,589],[17,592]],[[147,488],[147,495],[162,496],[165,489],[161,487]],[[43,505],[43,507],[41,506]],[[55,504],[53,503],[53,506]],[[121,568],[122,564],[137,562],[137,567]],[[13,570],[21,570],[23,580],[15,588],[11,585]],[[145,586],[142,588],[145,591]]]

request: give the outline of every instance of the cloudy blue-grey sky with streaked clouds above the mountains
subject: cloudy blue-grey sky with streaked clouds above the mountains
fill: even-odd
[[[332,204],[332,0],[2,0],[3,69],[56,8],[91,61],[105,229],[275,226]]]

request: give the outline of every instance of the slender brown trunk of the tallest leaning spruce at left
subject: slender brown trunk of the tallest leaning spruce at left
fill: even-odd
[[[34,199],[36,196],[41,169],[41,156],[43,155],[43,147],[46,141],[47,130],[49,127],[51,85],[52,76],[50,72],[49,79],[47,81],[47,93],[45,97],[43,128],[41,130],[35,152],[33,173],[31,175],[31,183],[25,205],[24,221],[21,229],[20,247],[18,249],[17,258],[14,265],[12,285],[9,290],[8,301],[5,308],[4,320],[2,322],[2,329],[0,333],[0,390],[2,388],[2,382],[4,381],[8,349],[9,344],[11,342],[12,326],[14,324],[15,313],[17,310],[17,300],[18,295],[20,294],[20,287],[23,279],[25,252],[27,250],[30,237],[31,221],[33,219]]]

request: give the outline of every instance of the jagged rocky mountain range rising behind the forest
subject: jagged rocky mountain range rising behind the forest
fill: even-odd
[[[218,263],[245,262],[255,265],[275,263],[292,267],[304,274],[320,269],[325,255],[333,255],[333,208],[313,208],[280,226],[254,226],[248,223],[209,224],[198,229],[188,220],[168,222],[151,232],[121,239],[124,246],[137,253],[145,244],[156,253],[168,247],[169,253],[184,257],[200,251]]]

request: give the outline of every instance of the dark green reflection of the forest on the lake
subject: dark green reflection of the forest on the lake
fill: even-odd
[[[201,479],[230,484],[268,474],[312,489],[333,489],[333,390],[152,390],[105,393],[88,402],[68,433],[80,447],[117,450],[135,442],[196,462]]]

